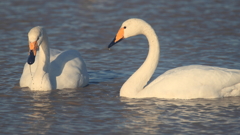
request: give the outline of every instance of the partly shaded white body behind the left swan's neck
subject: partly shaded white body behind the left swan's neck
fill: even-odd
[[[88,84],[89,77],[84,60],[76,50],[51,49],[50,77],[57,89],[77,88]]]

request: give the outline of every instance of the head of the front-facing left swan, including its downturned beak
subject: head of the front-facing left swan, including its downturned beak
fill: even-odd
[[[29,57],[28,64],[31,65],[35,61],[35,56],[37,54],[37,49],[43,41],[44,28],[41,26],[33,27],[28,32],[28,42],[29,42]]]

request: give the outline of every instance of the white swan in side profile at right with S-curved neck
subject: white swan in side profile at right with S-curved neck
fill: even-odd
[[[123,22],[108,49],[124,38],[143,34],[149,44],[146,60],[123,84],[120,96],[128,98],[221,98],[240,96],[240,70],[190,65],[171,69],[151,83],[157,68],[160,45],[153,28],[144,20],[131,18]]]

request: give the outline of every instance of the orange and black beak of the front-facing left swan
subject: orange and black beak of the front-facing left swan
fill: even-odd
[[[29,42],[29,56],[27,61],[29,65],[32,65],[34,63],[37,54],[37,49],[38,49],[37,41]]]

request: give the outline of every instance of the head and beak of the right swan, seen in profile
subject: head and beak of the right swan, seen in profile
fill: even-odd
[[[142,19],[131,18],[122,23],[122,26],[118,30],[113,41],[108,45],[108,48],[112,47],[116,43],[120,42],[124,38],[144,34],[144,28],[150,25]]]

